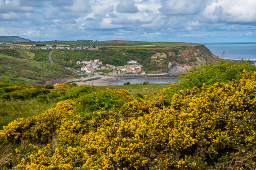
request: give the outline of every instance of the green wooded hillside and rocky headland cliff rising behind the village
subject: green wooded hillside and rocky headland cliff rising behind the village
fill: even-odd
[[[168,45],[168,43],[165,43],[165,45]],[[152,59],[152,56],[156,53],[162,53],[166,57]],[[104,51],[54,50],[52,59],[54,62],[68,67],[74,67],[76,61],[81,62],[94,59],[99,59],[103,64],[112,64],[114,66],[123,66],[128,61],[134,60],[142,64],[144,71],[147,73],[163,73],[167,71],[168,63],[178,63],[181,67],[190,66],[190,69],[202,65],[206,61],[215,60],[216,56],[204,45],[195,45],[194,47],[190,47],[190,51],[159,49],[159,47],[156,49],[137,49],[131,47]],[[186,69],[180,72],[186,72]],[[176,73],[178,74],[179,72]]]

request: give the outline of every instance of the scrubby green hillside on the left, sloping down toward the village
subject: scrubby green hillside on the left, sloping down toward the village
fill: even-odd
[[[0,82],[45,84],[66,78],[72,72],[64,66],[50,64],[48,50],[0,50]]]

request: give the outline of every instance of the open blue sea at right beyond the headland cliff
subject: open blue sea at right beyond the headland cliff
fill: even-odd
[[[225,59],[256,61],[256,43],[202,43],[216,56],[225,51]]]

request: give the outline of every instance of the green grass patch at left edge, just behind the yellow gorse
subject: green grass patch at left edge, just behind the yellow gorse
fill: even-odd
[[[0,130],[17,118],[26,118],[44,113],[56,104],[56,100],[49,100],[48,103],[41,103],[36,99],[26,101],[0,100]]]

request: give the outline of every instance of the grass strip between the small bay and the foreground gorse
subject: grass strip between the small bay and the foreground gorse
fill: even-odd
[[[97,88],[100,89],[124,89],[127,90],[128,92],[132,93],[132,96],[136,97],[137,94],[142,94],[142,95],[148,95],[152,96],[155,91],[160,91],[163,88],[168,88],[170,86],[170,83],[164,83],[164,84],[156,84],[156,83],[150,83],[150,84],[131,84],[131,85],[116,85],[116,86],[98,86]]]

